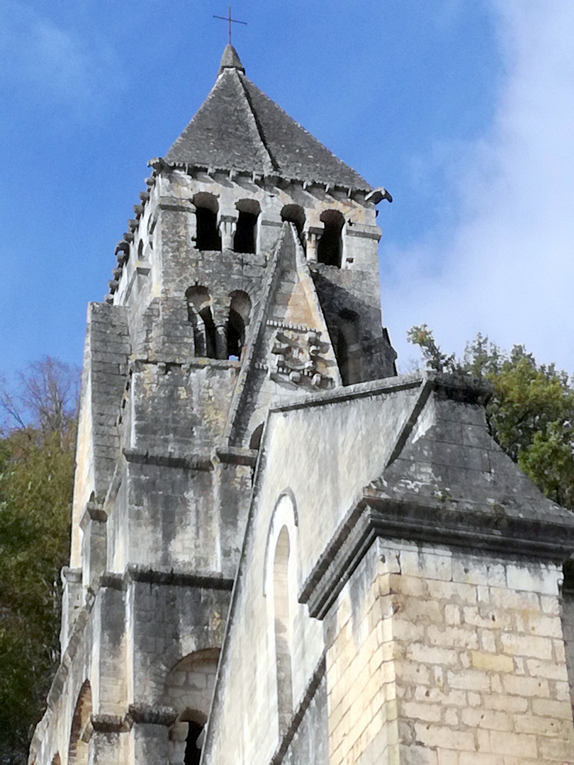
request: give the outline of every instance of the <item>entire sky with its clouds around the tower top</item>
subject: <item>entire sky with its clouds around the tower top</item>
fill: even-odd
[[[0,372],[80,363],[88,301],[214,83],[219,0],[2,0]],[[247,76],[380,206],[383,317],[478,330],[574,371],[574,3],[236,0]]]

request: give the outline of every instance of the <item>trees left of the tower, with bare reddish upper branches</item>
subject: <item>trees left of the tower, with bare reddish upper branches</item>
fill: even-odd
[[[0,763],[25,763],[59,660],[70,548],[77,372],[31,365],[0,390]]]

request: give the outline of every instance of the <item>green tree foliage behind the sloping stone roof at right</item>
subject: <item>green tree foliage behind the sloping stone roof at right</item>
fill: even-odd
[[[429,369],[489,380],[487,405],[491,434],[533,483],[550,499],[574,509],[574,387],[569,376],[536,363],[515,345],[510,353],[478,334],[462,359],[442,352],[426,324],[412,327]]]

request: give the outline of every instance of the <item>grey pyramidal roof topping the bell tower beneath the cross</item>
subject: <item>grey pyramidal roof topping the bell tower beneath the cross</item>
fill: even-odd
[[[232,45],[223,51],[209,96],[165,161],[371,189],[246,78]]]

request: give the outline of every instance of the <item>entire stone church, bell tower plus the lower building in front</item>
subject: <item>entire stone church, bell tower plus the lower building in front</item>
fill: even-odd
[[[91,304],[30,765],[574,762],[574,516],[396,376],[373,189],[233,47]]]

